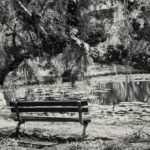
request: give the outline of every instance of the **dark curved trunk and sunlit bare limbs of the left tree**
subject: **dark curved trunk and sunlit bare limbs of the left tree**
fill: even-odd
[[[25,18],[24,22],[29,24],[28,20],[26,20],[26,19],[32,20],[33,14],[30,13],[28,11],[28,9],[25,8],[25,6],[19,0],[15,0],[15,2],[18,4],[17,7],[19,7],[23,12],[22,16],[24,16],[24,18]],[[49,53],[54,53],[53,49],[51,50],[52,52],[50,52],[49,47],[47,48],[45,46],[46,48],[44,48],[44,45],[47,45],[48,44],[47,41],[49,41],[49,40],[53,41],[53,36],[55,38],[57,38],[57,35],[53,35],[53,34],[49,35],[46,32],[46,30],[40,25],[40,23],[34,24],[34,23],[31,22],[30,26],[31,25],[34,29],[35,34],[39,35],[39,38],[41,39],[41,42],[42,42],[42,45],[43,45],[43,50],[44,51],[48,50]],[[15,37],[13,39],[15,40]],[[77,37],[74,37],[74,36],[70,36],[70,40],[71,40],[72,44],[78,45],[79,48],[84,47],[84,50],[85,50],[86,54],[88,54],[90,46],[87,43],[85,43],[84,41],[82,41],[82,40],[80,40],[80,39],[78,39]],[[57,39],[57,41],[58,41],[58,39]],[[66,40],[64,39],[63,42],[65,43]],[[14,43],[15,43],[15,41],[14,41]],[[14,44],[14,47],[16,49],[17,46],[15,44]],[[62,47],[60,47],[60,48],[61,48],[61,51],[57,51],[57,49],[56,49],[56,51],[55,51],[56,54],[55,55],[63,52],[63,48]],[[30,53],[34,53],[34,52],[30,52]],[[20,55],[20,54],[18,53],[18,55]],[[15,58],[15,60],[13,62],[8,62],[5,66],[5,68],[0,70],[0,85],[1,86],[4,85],[4,81],[5,81],[5,78],[8,75],[8,73],[13,71],[14,69],[16,69],[19,66],[19,64],[26,58],[24,56],[18,56],[18,55],[15,55],[15,56],[17,56],[17,58]]]

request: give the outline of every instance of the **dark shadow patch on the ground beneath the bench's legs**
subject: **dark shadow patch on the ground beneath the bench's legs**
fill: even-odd
[[[81,143],[81,142],[92,142],[95,140],[104,140],[109,141],[107,137],[94,137],[83,138],[81,135],[52,135],[50,131],[46,131],[46,135],[42,134],[41,130],[23,130],[19,133],[18,139],[16,139],[15,129],[14,128],[2,128],[0,129],[0,144],[3,145],[17,145],[20,147],[32,147],[32,148],[44,148],[44,147],[53,147],[59,144],[69,144],[69,143]]]

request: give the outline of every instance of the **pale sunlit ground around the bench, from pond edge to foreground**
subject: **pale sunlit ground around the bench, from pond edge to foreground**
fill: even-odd
[[[29,122],[22,125],[19,139],[16,139],[13,135],[16,122],[11,119],[9,108],[1,106],[0,149],[148,150],[149,107],[139,102],[123,102],[113,110],[110,105],[90,104],[92,122],[86,138],[81,136],[79,123]]]

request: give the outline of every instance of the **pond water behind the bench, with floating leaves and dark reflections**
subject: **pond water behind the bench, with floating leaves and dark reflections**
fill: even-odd
[[[29,101],[44,100],[79,100],[86,99],[97,104],[118,104],[122,101],[150,101],[150,81],[102,82],[97,85],[84,85],[72,89],[64,85],[53,87],[33,86],[6,91],[5,99],[9,101],[21,98]]]

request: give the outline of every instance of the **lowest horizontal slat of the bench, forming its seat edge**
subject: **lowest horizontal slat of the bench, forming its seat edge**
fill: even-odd
[[[62,117],[34,117],[34,116],[21,116],[22,121],[50,121],[50,122],[79,122],[79,118],[62,118]],[[18,121],[15,118],[15,121]],[[90,118],[84,118],[83,121],[91,122]]]

